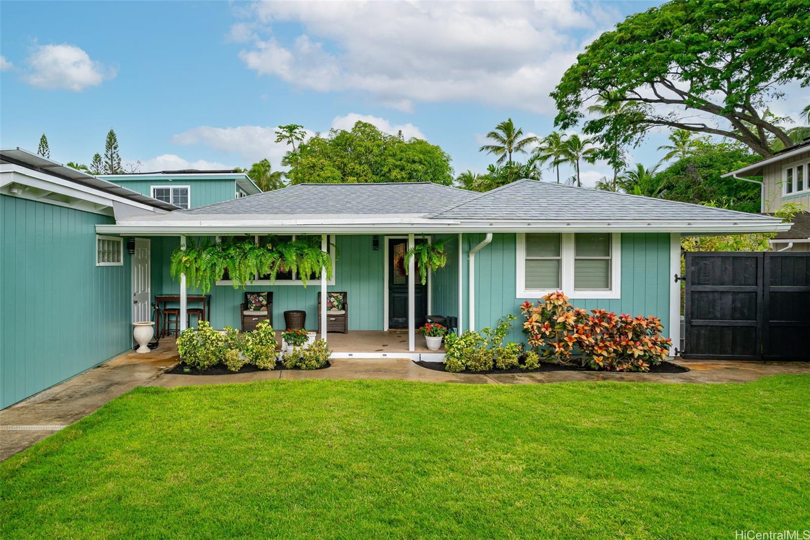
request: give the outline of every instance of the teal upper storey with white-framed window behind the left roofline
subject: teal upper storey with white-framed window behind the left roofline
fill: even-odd
[[[262,192],[247,174],[234,170],[164,170],[156,173],[101,174],[98,178],[179,208],[198,208]]]

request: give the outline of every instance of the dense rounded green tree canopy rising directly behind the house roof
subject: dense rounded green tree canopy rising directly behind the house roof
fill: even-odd
[[[367,122],[331,130],[302,143],[291,165],[291,184],[326,182],[436,182],[450,185],[450,156],[422,139],[387,135]]]

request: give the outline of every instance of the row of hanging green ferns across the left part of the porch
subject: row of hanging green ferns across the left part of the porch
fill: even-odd
[[[326,276],[331,278],[332,259],[321,250],[321,238],[301,236],[282,242],[270,236],[263,242],[257,245],[253,239],[235,238],[222,238],[219,242],[211,242],[209,238],[191,240],[185,250],[177,247],[173,251],[169,270],[177,279],[185,273],[186,282],[203,294],[222,279],[226,269],[234,289],[244,288],[257,275],[275,281],[282,270],[296,272],[305,287],[312,276],[321,275],[322,268],[326,268]]]

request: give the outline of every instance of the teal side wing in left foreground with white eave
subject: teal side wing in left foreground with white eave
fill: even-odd
[[[31,152],[0,150],[0,408],[130,348],[134,257],[126,238],[95,227],[171,210]]]

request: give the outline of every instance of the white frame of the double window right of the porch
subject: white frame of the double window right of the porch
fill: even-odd
[[[515,242],[516,290],[515,298],[537,299],[545,294],[562,290],[572,299],[579,298],[621,298],[621,233],[611,233],[611,288],[610,289],[574,289],[574,234],[561,233],[560,244],[560,289],[527,289],[526,288],[526,233],[518,233]]]

